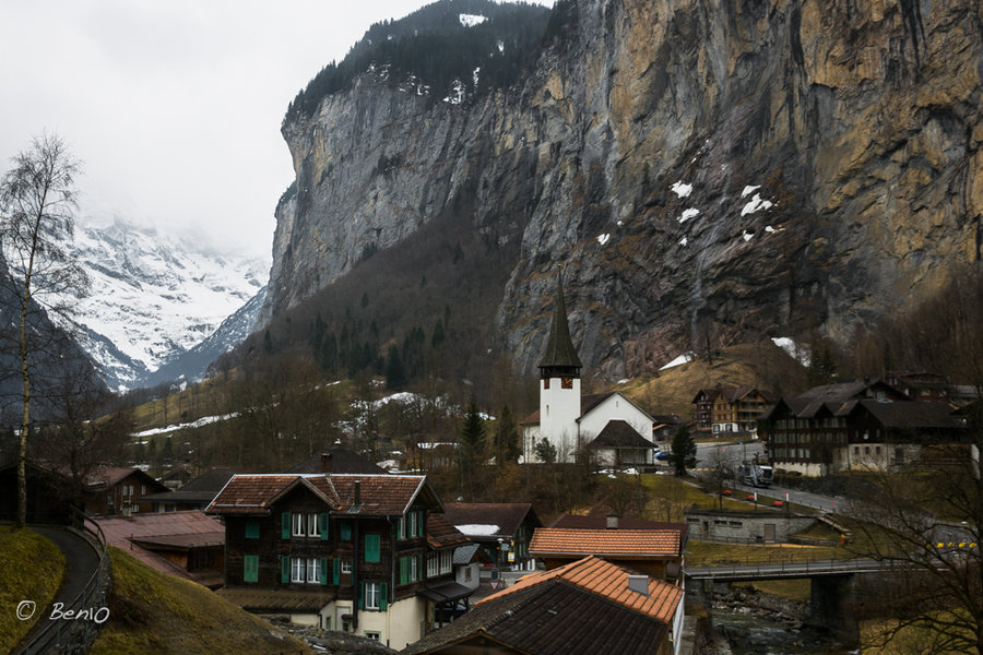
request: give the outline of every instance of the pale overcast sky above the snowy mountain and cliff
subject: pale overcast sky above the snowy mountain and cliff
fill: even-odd
[[[553,0],[537,0],[552,5]],[[372,23],[425,0],[0,2],[0,170],[44,131],[116,212],[270,257],[294,95]]]

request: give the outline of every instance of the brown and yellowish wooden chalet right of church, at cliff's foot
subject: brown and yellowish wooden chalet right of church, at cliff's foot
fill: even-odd
[[[701,389],[694,396],[696,429],[714,437],[723,434],[756,438],[758,418],[771,405],[770,394],[755,386],[716,386]]]

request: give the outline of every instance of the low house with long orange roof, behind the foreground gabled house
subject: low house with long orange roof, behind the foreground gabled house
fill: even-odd
[[[567,525],[575,524],[567,521]],[[589,555],[637,569],[656,580],[683,584],[683,560],[689,528],[682,523],[621,527],[612,516],[607,527],[540,527],[529,552],[556,569]]]

